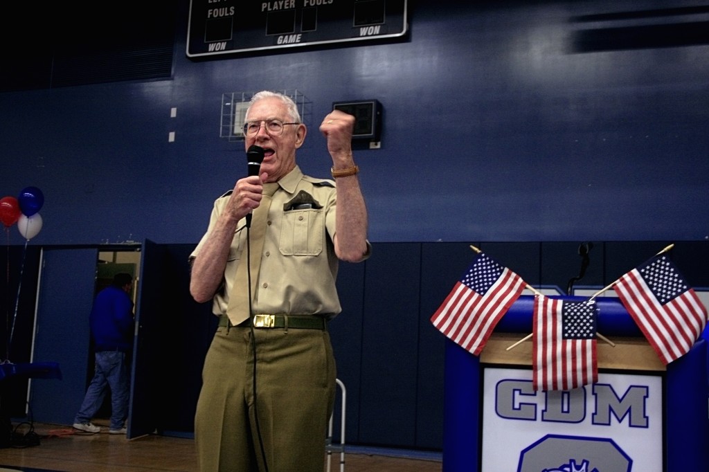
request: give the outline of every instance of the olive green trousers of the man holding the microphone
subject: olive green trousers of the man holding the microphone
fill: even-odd
[[[195,415],[200,471],[323,472],[336,388],[330,335],[254,335],[255,371],[249,327],[218,327],[207,352]]]

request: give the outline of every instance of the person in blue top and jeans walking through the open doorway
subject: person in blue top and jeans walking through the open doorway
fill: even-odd
[[[107,388],[111,389],[110,434],[125,434],[130,394],[130,355],[133,351],[133,300],[130,292],[133,277],[116,274],[113,283],[96,295],[89,323],[96,352],[96,370],[84,395],[74,428],[84,432],[101,432],[91,419],[101,408]]]

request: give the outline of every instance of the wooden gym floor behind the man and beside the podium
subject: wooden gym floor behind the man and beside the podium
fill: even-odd
[[[96,422],[100,426],[101,422]],[[13,425],[18,427],[18,425]],[[196,456],[192,439],[150,435],[136,439],[101,433],[87,434],[65,425],[19,425],[18,433],[40,444],[0,448],[0,472],[62,471],[62,472],[196,472]],[[372,452],[374,451],[374,452]],[[437,454],[413,454],[401,451],[381,451],[345,444],[345,472],[440,472],[442,463]],[[327,470],[327,469],[326,469]],[[340,471],[340,453],[330,457],[330,471]]]

